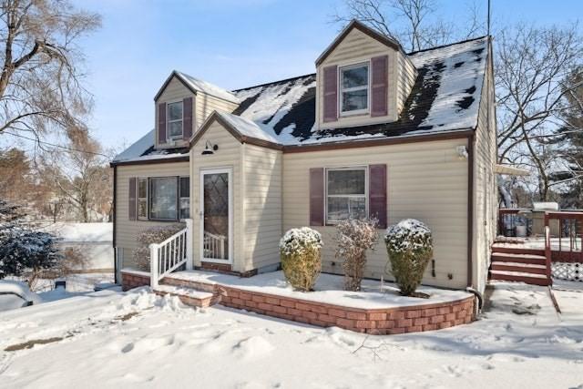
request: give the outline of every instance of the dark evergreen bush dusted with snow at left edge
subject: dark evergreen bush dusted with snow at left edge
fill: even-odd
[[[55,235],[34,230],[20,207],[0,200],[0,279],[23,277],[30,289],[46,271],[55,271],[62,255]]]

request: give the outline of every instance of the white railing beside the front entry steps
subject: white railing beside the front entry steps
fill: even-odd
[[[166,241],[149,245],[150,286],[155,288],[161,279],[183,264],[192,269],[192,220]]]

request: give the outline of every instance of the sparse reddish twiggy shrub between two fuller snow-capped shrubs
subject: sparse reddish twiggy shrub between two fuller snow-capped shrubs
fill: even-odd
[[[376,230],[378,220],[349,219],[336,225],[338,248],[336,258],[343,260],[344,289],[360,291],[363,282],[366,251],[374,250],[374,243],[379,238]]]

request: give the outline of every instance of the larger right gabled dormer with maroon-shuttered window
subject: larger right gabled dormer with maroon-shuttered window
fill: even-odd
[[[397,120],[417,71],[394,39],[353,20],[316,60],[316,126]]]

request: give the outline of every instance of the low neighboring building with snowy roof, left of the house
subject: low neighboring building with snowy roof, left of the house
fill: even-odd
[[[113,272],[113,223],[57,222],[46,228],[60,238],[61,251],[72,252],[80,261],[71,261],[72,271]],[[67,251],[71,250],[71,251]]]

